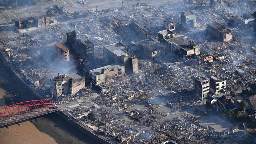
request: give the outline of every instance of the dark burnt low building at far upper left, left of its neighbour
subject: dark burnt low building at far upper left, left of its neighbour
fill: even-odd
[[[16,28],[19,28],[19,29],[35,27],[35,18],[29,17],[29,18],[17,19],[17,20],[15,20],[15,26],[16,26]]]

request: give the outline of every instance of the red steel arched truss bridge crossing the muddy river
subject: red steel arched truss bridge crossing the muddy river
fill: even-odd
[[[30,100],[0,108],[0,127],[58,111],[51,100]]]

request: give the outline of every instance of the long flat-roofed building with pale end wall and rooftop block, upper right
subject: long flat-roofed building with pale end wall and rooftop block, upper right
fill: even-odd
[[[192,40],[188,41],[188,44],[185,44],[177,38],[170,38],[166,39],[166,43],[168,48],[178,56],[182,57],[183,60],[195,58],[200,55],[200,47]]]

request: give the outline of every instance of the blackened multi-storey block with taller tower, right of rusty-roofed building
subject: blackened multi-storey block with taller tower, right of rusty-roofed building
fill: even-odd
[[[90,40],[78,39],[76,31],[67,32],[67,44],[71,47],[78,59],[93,59],[94,58],[94,44]]]

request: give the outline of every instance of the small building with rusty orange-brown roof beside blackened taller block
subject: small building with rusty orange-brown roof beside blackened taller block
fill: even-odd
[[[63,44],[55,44],[55,55],[60,61],[69,61],[69,49]]]

